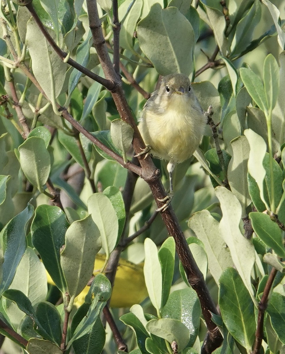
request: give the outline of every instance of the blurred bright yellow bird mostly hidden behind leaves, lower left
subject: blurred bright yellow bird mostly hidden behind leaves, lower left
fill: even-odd
[[[106,255],[97,254],[94,264],[93,275],[98,274],[105,262]],[[55,285],[49,273],[47,281]],[[79,307],[84,303],[85,296],[90,287],[86,286],[75,298],[74,304]],[[148,296],[146,284],[144,282],[143,264],[134,264],[120,258],[116,272],[114,287],[110,301],[110,307],[131,307],[139,304]]]

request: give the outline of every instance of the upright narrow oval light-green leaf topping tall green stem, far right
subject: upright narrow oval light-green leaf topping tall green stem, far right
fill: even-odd
[[[268,110],[272,112],[279,94],[279,68],[272,54],[268,54],[264,60],[263,80]]]

